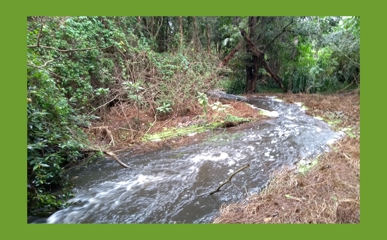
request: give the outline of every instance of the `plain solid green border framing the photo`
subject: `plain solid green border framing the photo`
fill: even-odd
[[[2,229],[6,239],[357,239],[383,236],[384,222],[384,157],[377,149],[384,149],[384,140],[375,141],[372,132],[383,132],[384,120],[374,116],[377,102],[373,96],[384,96],[384,35],[386,26],[382,16],[385,9],[378,1],[22,1],[5,6],[1,15],[3,32],[2,55],[3,111],[1,126],[3,149],[1,179],[3,191]],[[9,3],[8,3],[9,4]],[[379,5],[378,5],[379,4]],[[20,8],[22,10],[20,10]],[[21,13],[22,12],[22,13]],[[29,15],[360,15],[362,36],[361,76],[363,91],[361,110],[362,130],[362,215],[354,225],[210,225],[210,224],[27,224],[25,160],[25,26]],[[25,65],[24,65],[25,66]],[[373,84],[371,81],[374,81]],[[372,87],[374,86],[374,87]],[[371,112],[372,110],[375,110]],[[384,108],[379,111],[384,112]],[[372,123],[371,123],[372,121]],[[383,136],[383,135],[381,135]],[[375,136],[374,136],[375,137]],[[373,140],[373,141],[372,141]],[[379,139],[377,139],[379,140]],[[375,162],[376,164],[372,164]],[[379,231],[378,231],[379,230]],[[378,234],[379,232],[379,234]],[[10,235],[13,234],[13,235]],[[10,237],[11,236],[11,237]]]

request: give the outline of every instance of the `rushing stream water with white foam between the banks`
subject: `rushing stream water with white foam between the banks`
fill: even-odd
[[[113,160],[80,169],[71,201],[81,203],[56,212],[47,223],[210,223],[222,204],[260,191],[272,171],[316,157],[340,137],[300,105],[265,97],[246,102],[278,117],[203,132],[193,138],[205,135],[205,140],[184,148],[119,155],[131,169]],[[209,195],[246,164],[250,168],[231,184]]]

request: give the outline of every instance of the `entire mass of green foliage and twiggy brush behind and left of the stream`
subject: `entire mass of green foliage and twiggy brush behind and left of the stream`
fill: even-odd
[[[206,111],[214,87],[245,92],[245,44],[219,69],[239,28],[248,31],[248,17],[27,17],[29,212],[65,207],[70,171],[97,157],[80,127],[104,121],[116,103],[139,121],[141,110]],[[254,28],[253,43],[290,91],[359,87],[360,17],[258,17]],[[257,92],[283,91],[258,71]]]

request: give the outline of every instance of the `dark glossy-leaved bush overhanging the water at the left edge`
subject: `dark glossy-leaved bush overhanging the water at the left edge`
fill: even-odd
[[[81,152],[87,140],[77,124],[85,124],[90,117],[74,108],[77,100],[66,98],[63,89],[44,71],[27,69],[27,97],[29,211],[63,207],[72,196],[70,166],[88,161]],[[64,188],[56,194],[48,193],[57,186]]]

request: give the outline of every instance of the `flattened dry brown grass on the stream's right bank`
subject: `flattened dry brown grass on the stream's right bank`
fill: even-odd
[[[260,194],[225,205],[214,223],[360,223],[360,97],[276,94],[303,102],[308,114],[328,118],[343,112],[336,128],[352,128],[356,137],[333,144],[306,175],[283,169]]]

